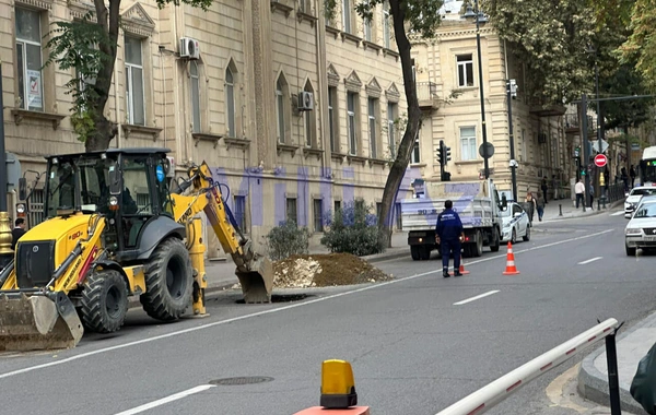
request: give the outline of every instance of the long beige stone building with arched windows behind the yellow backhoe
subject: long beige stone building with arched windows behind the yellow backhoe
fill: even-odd
[[[337,9],[327,20],[320,0],[220,0],[208,11],[124,0],[112,146],[168,147],[179,174],[206,161],[256,242],[286,218],[318,239],[336,205],[379,202],[406,112],[400,59],[385,7],[372,22],[351,0]],[[52,23],[91,10],[89,0],[0,0],[7,151],[28,180],[44,155],[83,151],[65,87],[72,72],[42,64]],[[183,38],[199,56],[180,54]],[[209,257],[221,254],[208,240]]]

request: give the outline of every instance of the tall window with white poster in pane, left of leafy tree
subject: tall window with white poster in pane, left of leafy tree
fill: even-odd
[[[44,110],[40,13],[15,9],[16,75],[21,108]]]

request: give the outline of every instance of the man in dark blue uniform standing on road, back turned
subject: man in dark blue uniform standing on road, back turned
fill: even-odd
[[[435,240],[442,251],[442,275],[448,278],[448,260],[454,256],[454,275],[460,276],[460,242],[465,239],[462,222],[458,213],[453,210],[454,202],[444,202],[444,211],[437,215]]]

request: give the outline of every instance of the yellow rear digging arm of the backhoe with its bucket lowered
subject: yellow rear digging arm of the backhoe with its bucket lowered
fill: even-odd
[[[188,170],[189,178],[172,192],[174,216],[178,223],[188,224],[204,212],[223,250],[230,253],[235,265],[245,303],[271,303],[273,265],[266,257],[255,251],[253,241],[244,236],[235,223],[230,208],[223,202],[219,183],[212,179],[210,167],[203,162]],[[187,195],[181,193],[188,192]],[[195,233],[198,233],[196,230]],[[192,261],[204,274],[202,258]]]

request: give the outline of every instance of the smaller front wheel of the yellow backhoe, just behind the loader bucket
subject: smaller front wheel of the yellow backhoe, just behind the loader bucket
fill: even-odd
[[[81,305],[82,323],[87,330],[118,331],[128,312],[128,284],[117,271],[94,272],[84,283]]]

